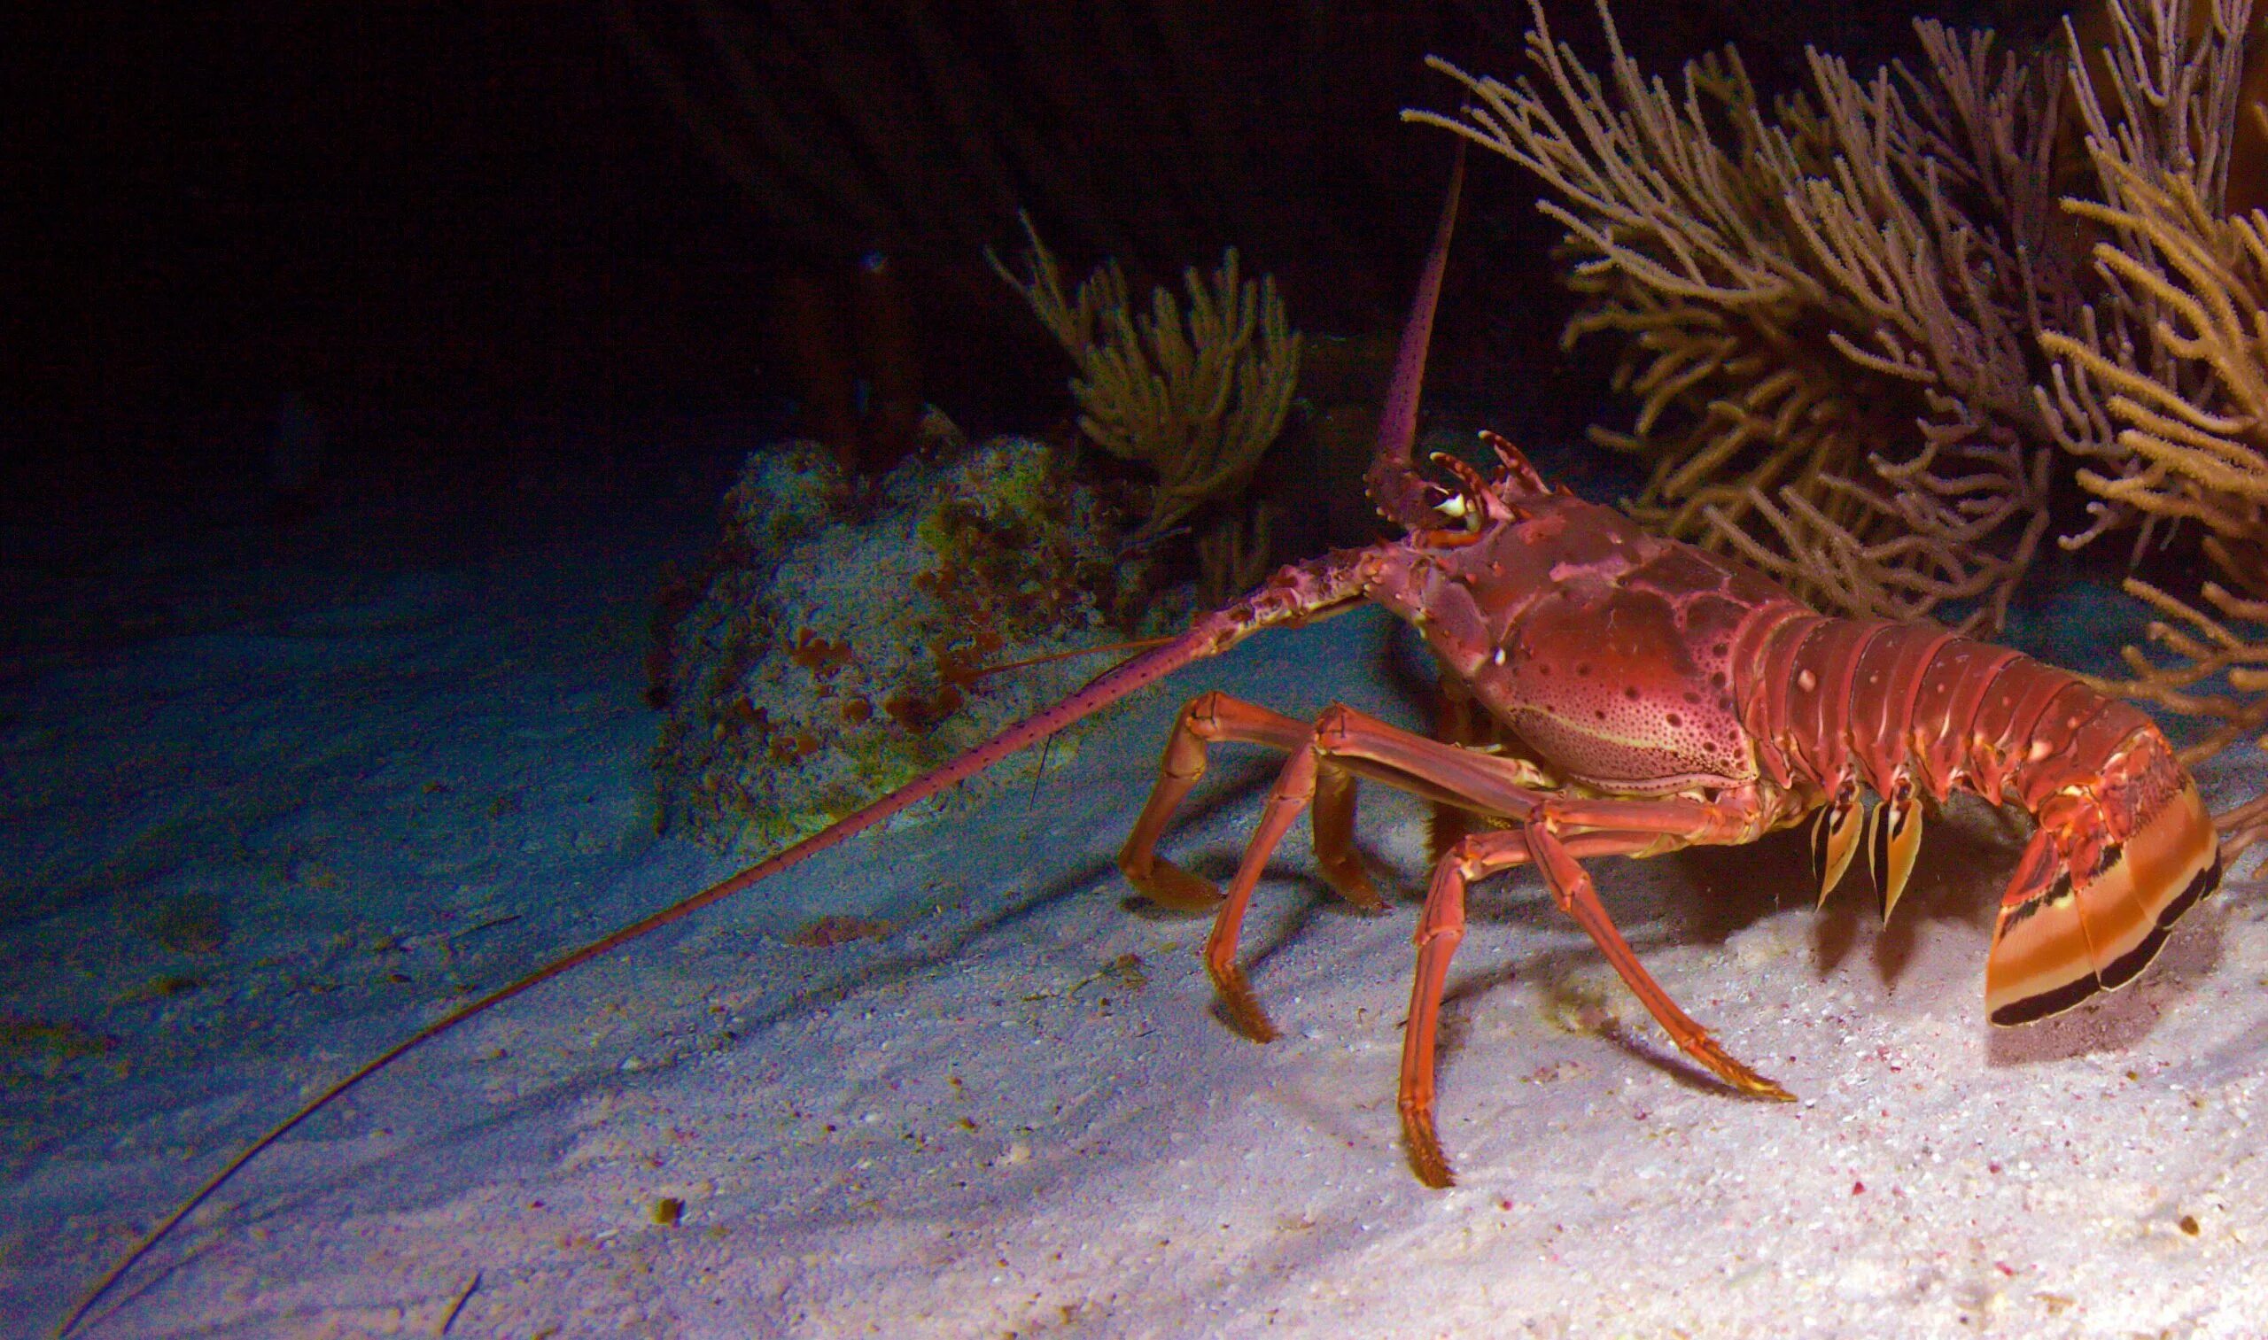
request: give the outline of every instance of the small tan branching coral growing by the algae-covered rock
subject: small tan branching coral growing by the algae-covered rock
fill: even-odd
[[[1186,272],[1186,322],[1166,288],[1141,315],[1116,261],[1066,297],[1061,268],[1030,218],[1023,229],[1032,240],[1023,279],[984,256],[1077,363],[1070,395],[1080,431],[1157,472],[1157,497],[1134,540],[1154,540],[1198,508],[1241,494],[1300,383],[1300,336],[1284,320],[1275,279],[1241,279],[1232,247],[1211,281]]]

